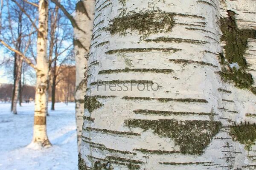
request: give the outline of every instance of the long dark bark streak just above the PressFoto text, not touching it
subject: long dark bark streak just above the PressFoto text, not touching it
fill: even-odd
[[[120,72],[155,72],[155,73],[172,73],[172,69],[157,69],[157,68],[134,68],[134,69],[115,69],[115,70],[101,70],[98,74],[112,74]]]

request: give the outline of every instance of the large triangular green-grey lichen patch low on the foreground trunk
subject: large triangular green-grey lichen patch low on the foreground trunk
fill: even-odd
[[[127,119],[127,127],[140,127],[144,130],[153,130],[159,136],[169,137],[180,146],[180,153],[202,154],[210,144],[211,139],[221,128],[221,122],[203,120],[175,119]]]

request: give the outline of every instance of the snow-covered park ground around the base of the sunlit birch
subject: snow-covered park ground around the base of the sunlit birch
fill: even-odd
[[[23,103],[13,115],[10,103],[0,103],[0,170],[77,170],[75,104],[56,103],[55,111],[49,110],[52,147],[43,150],[26,147],[32,140],[33,110],[33,103]]]

